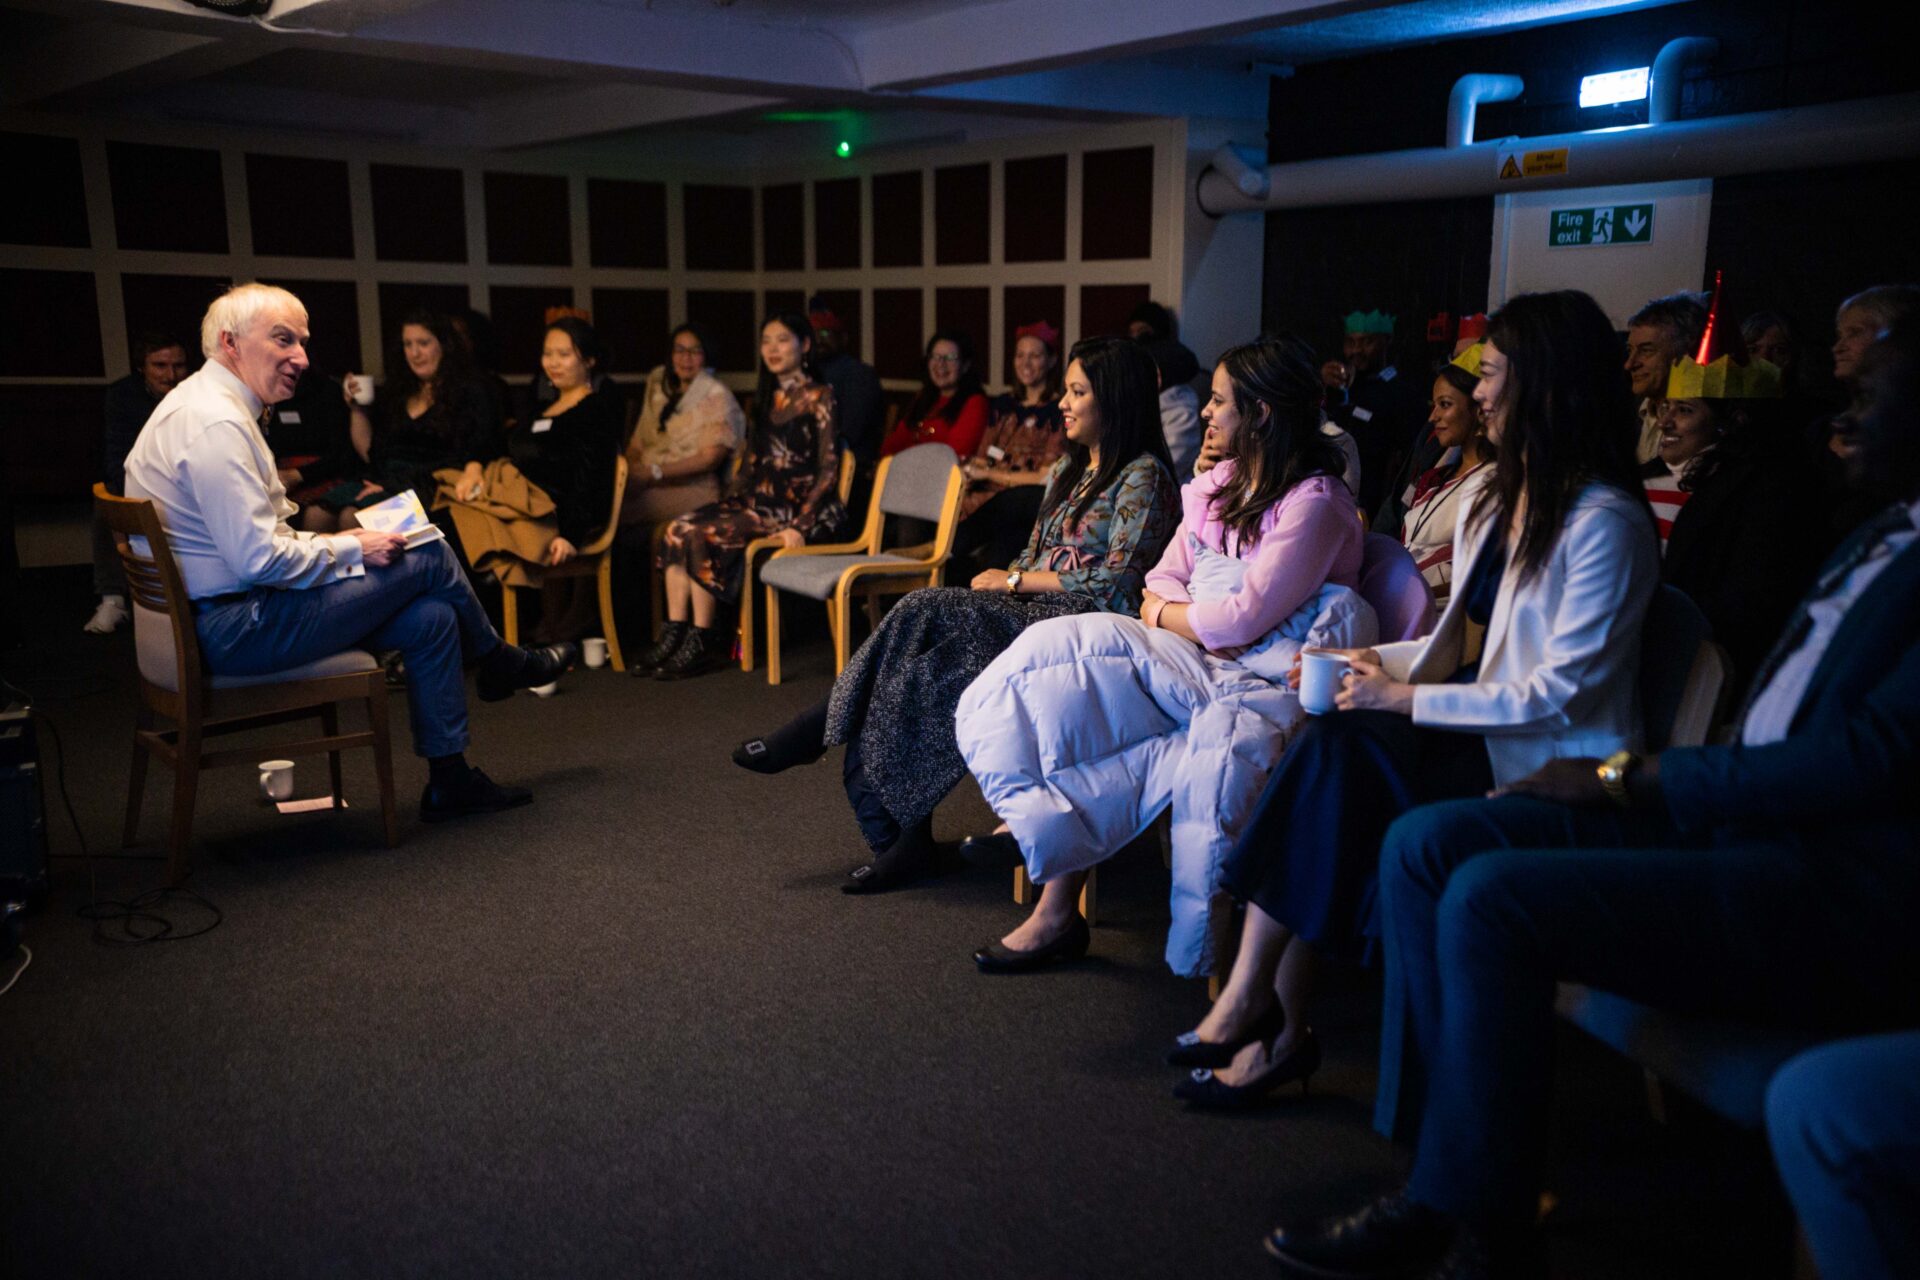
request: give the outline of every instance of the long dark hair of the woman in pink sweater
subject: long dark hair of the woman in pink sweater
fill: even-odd
[[[1208,505],[1244,551],[1260,541],[1261,520],[1288,489],[1308,476],[1344,474],[1346,455],[1319,432],[1319,361],[1306,342],[1260,338],[1233,347],[1219,365],[1233,384],[1240,430],[1227,445],[1233,476]],[[1219,549],[1227,551],[1225,533]]]

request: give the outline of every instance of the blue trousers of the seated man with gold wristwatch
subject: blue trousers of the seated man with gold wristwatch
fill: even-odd
[[[1534,1213],[1555,981],[1809,1027],[1887,1025],[1912,1007],[1920,948],[1853,925],[1868,890],[1826,854],[1686,844],[1659,816],[1519,796],[1394,823],[1377,1125],[1405,1132],[1423,1111],[1413,1199],[1482,1224]]]

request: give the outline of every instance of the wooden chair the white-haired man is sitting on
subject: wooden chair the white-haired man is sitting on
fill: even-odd
[[[113,497],[94,486],[94,509],[119,549],[127,570],[132,608],[134,651],[140,666],[140,710],[132,731],[132,775],[127,785],[127,825],[121,844],[131,846],[140,829],[140,800],[146,793],[146,758],[156,756],[173,770],[173,819],[167,827],[167,883],[179,885],[188,873],[188,841],[194,829],[194,796],[202,770],[230,764],[252,766],[265,756],[313,756],[326,752],[334,808],[346,806],[340,783],[340,752],[371,747],[380,779],[380,816],[386,844],[399,842],[394,810],[394,752],[386,722],[386,674],[372,654],[359,649],[336,652],[319,662],[271,672],[267,676],[211,676],[200,658],[192,603],[180,581],[180,568],[167,545],[167,532],[154,503]],[[146,539],[146,553],[132,539]],[[363,733],[340,731],[340,702],[367,704]],[[171,729],[157,720],[173,722]],[[221,733],[265,729],[319,718],[321,737],[292,743],[207,750],[205,741]]]

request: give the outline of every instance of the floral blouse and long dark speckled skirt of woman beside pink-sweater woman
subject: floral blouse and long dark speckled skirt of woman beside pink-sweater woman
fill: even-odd
[[[1068,459],[1054,464],[1048,489],[1066,468]],[[1140,612],[1146,570],[1160,560],[1181,520],[1173,472],[1142,453],[1092,495],[1083,512],[1071,514],[1091,482],[1092,470],[1068,501],[1035,524],[1025,555],[1014,562],[1014,568],[1060,574],[1060,591],[914,591],[893,606],[833,681],[826,741],[847,743],[849,766],[858,752],[864,785],[899,825],[927,818],[966,775],[954,741],[960,693],[1021,631],[1066,614]],[[887,844],[885,833],[864,814],[860,825],[874,848]]]

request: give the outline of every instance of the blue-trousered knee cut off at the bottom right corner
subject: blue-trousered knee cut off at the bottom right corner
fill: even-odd
[[[1893,1280],[1920,1259],[1920,1031],[1841,1040],[1766,1088],[1766,1138],[1822,1276]]]

